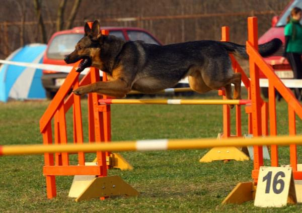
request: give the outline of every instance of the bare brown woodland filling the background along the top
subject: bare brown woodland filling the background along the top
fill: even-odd
[[[231,41],[244,44],[246,18],[253,11],[261,35],[270,27],[272,16],[280,14],[290,0],[158,0],[157,4],[149,0],[0,2],[0,57],[5,57],[26,43],[47,42],[55,31],[95,19],[102,26],[140,26],[164,44],[220,40],[220,27],[230,26]]]

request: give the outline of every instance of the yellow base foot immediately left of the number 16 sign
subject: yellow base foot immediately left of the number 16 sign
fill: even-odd
[[[249,200],[254,200],[255,194],[256,186],[254,185],[254,182],[238,183],[231,193],[225,197],[222,204],[241,204]]]

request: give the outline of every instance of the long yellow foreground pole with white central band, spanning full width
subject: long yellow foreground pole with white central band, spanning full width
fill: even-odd
[[[252,139],[176,139],[176,140],[143,140],[94,144],[67,145],[10,145],[0,146],[1,155],[30,155],[56,152],[96,152],[96,151],[151,151],[177,149],[204,149],[228,146],[261,146],[261,145],[302,145],[302,136],[258,137]]]

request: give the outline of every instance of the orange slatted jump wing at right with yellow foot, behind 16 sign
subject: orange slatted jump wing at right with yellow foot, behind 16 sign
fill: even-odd
[[[288,105],[288,134],[296,134],[295,117],[302,119],[302,105],[295,98],[294,94],[287,88],[275,74],[274,70],[268,65],[258,53],[258,28],[257,18],[248,18],[248,41],[247,53],[250,60],[251,77],[251,108],[247,107],[249,113],[249,133],[254,137],[276,136],[277,118],[275,90],[277,90]],[[267,77],[269,82],[268,103],[260,97],[259,70]],[[269,128],[268,128],[269,120]],[[270,132],[268,133],[268,129]],[[297,170],[297,150],[296,145],[289,146],[290,166],[292,167],[294,179],[302,179],[302,171]],[[255,190],[258,182],[259,168],[264,165],[262,146],[254,146],[254,169],[252,170],[253,182],[239,183],[236,188],[226,197],[222,203],[242,203],[254,199]],[[278,147],[271,145],[271,162],[267,166],[279,166]]]

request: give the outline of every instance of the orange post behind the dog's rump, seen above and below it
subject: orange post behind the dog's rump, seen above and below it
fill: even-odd
[[[222,27],[221,28],[221,41],[229,41],[230,34],[229,34],[229,27]],[[225,90],[222,93],[223,100],[226,99]],[[222,105],[222,112],[223,112],[223,138],[229,138],[231,136],[231,115],[230,115],[230,108],[228,105]]]

